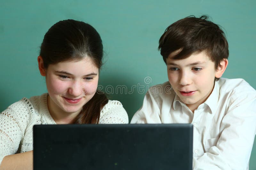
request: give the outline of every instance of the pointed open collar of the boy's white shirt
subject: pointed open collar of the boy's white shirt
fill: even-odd
[[[218,83],[218,81],[215,81],[214,88],[212,90],[211,95],[204,102],[205,104],[207,104],[209,106],[212,113],[215,113],[215,111],[216,111],[216,106],[217,106],[217,103],[219,100],[219,91],[220,91],[219,83]],[[173,105],[172,105],[174,110],[176,110],[177,103],[180,103],[181,105],[186,106],[186,104],[184,104],[180,100],[180,97],[177,94],[175,94],[175,97],[173,100]]]

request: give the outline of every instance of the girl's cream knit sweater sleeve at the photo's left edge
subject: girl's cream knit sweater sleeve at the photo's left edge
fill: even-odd
[[[6,155],[15,154],[23,138],[30,109],[23,98],[0,113],[0,164]]]

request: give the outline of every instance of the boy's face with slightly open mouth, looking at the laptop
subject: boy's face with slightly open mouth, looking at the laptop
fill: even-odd
[[[166,59],[168,79],[182,102],[194,112],[212,93],[217,71],[204,51],[193,53],[186,59],[173,60],[177,52]]]

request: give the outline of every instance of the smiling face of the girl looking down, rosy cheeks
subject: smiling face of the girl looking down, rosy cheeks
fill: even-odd
[[[89,58],[50,64],[45,72],[48,108],[56,114],[76,117],[95,94],[99,68]]]

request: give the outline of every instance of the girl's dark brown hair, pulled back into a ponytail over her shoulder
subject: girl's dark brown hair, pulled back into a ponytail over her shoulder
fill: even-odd
[[[44,68],[62,61],[79,61],[89,57],[96,67],[102,66],[103,46],[99,33],[89,24],[72,19],[59,21],[44,35],[40,56]],[[82,108],[75,124],[98,124],[100,110],[108,98],[99,90]]]

